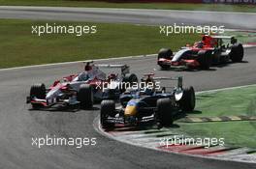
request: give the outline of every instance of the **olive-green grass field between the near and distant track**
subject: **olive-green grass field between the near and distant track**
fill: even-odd
[[[157,53],[161,47],[176,50],[187,42],[200,39],[194,34],[165,37],[159,27],[129,24],[49,22],[53,25],[96,25],[97,33],[77,37],[76,34],[32,34],[32,25],[44,21],[0,19],[0,68],[92,60]]]

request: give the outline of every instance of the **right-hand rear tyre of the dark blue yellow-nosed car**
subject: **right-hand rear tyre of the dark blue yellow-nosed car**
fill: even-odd
[[[183,96],[179,100],[182,111],[193,111],[196,105],[195,91],[192,86],[183,90]]]

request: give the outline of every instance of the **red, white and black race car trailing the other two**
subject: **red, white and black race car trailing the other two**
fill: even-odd
[[[195,42],[193,46],[187,44],[175,55],[171,49],[160,49],[157,64],[162,69],[208,70],[213,64],[241,62],[242,58],[243,46],[234,37],[204,35],[201,42]]]

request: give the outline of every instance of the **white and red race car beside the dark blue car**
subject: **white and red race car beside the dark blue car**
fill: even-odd
[[[120,68],[121,74],[110,73],[108,76],[99,68]],[[94,100],[118,99],[125,91],[123,82],[138,82],[136,74],[129,73],[126,65],[94,65],[87,62],[79,74],[56,80],[48,89],[45,84],[33,85],[27,103],[33,108],[52,107],[53,105],[77,105],[83,108],[93,106]]]

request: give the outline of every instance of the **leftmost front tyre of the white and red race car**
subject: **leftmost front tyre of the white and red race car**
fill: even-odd
[[[46,99],[47,90],[45,84],[35,84],[30,88],[30,99],[37,98],[37,99]],[[42,104],[39,103],[31,103],[33,108],[40,108],[43,107]]]

